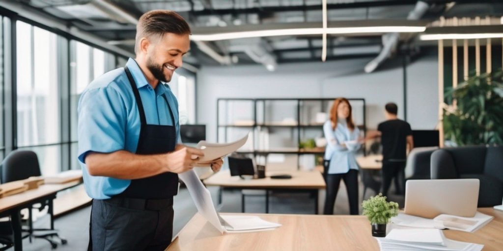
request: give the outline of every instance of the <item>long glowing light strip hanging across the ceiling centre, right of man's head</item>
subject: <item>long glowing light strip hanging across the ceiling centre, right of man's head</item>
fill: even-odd
[[[375,26],[375,27],[339,27],[339,28],[302,28],[279,29],[247,32],[228,32],[208,35],[191,36],[194,41],[217,41],[238,38],[292,36],[292,35],[321,35],[326,34],[358,34],[358,33],[388,33],[388,32],[424,32],[423,26]]]

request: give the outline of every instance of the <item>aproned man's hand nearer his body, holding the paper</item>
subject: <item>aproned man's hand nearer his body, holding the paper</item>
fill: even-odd
[[[184,173],[191,170],[196,162],[204,156],[203,151],[183,145],[177,145],[175,150],[175,152],[165,155],[167,171],[172,173]],[[197,158],[193,158],[193,156]]]

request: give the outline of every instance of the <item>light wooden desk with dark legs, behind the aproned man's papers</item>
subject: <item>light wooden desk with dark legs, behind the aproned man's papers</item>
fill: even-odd
[[[291,179],[271,179],[271,175],[289,174]],[[229,170],[222,170],[204,180],[206,186],[219,186],[218,202],[222,203],[223,189],[261,189],[266,190],[266,213],[269,212],[269,191],[309,192],[314,196],[314,210],[318,213],[318,190],[325,188],[321,173],[316,171],[278,171],[267,172],[267,178],[243,180],[230,176]]]

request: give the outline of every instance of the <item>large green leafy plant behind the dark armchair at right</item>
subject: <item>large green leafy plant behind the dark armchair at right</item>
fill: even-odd
[[[445,139],[458,146],[503,145],[503,71],[470,76],[446,92]]]

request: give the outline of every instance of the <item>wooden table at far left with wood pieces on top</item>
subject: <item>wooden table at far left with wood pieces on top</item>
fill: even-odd
[[[37,189],[28,190],[15,195],[0,198],[0,216],[10,215],[14,232],[14,250],[23,250],[21,238],[21,218],[19,212],[33,204],[49,201],[49,214],[53,215],[53,199],[56,193],[82,183],[73,181],[65,184],[44,184]],[[54,219],[51,217],[51,229],[54,229]]]

